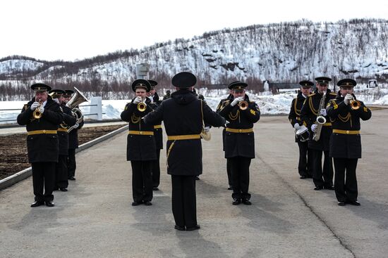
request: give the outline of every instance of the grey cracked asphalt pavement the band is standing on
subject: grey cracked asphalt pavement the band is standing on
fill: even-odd
[[[55,207],[31,208],[32,180],[0,192],[0,257],[387,257],[388,110],[363,122],[360,207],[339,207],[297,172],[298,147],[284,116],[255,124],[253,205],[231,205],[222,130],[202,141],[197,181],[199,231],[174,229],[171,182],[161,157],[152,206],[132,207],[126,133],[77,155],[76,181]]]

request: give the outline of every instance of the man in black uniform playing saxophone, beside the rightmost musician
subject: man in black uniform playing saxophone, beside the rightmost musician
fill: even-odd
[[[336,93],[332,93],[328,89],[329,82],[332,79],[328,77],[315,78],[316,86],[315,92],[310,94],[301,110],[301,120],[307,124],[310,130],[310,137],[308,140],[308,148],[313,153],[313,182],[315,184],[315,191],[334,190],[333,186],[333,164],[332,158],[329,156],[329,142],[332,135],[332,123],[329,122],[329,117],[326,113],[327,103],[336,97]],[[321,101],[325,98],[325,101]],[[322,104],[322,105],[321,105]],[[322,126],[318,126],[317,117],[325,117],[326,122]],[[315,141],[314,134],[317,133],[318,128],[321,127],[320,138]],[[325,154],[322,170],[322,152]]]

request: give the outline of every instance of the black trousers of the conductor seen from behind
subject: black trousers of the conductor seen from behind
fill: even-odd
[[[188,228],[197,223],[197,201],[195,198],[195,176],[171,175],[172,214],[177,226]]]

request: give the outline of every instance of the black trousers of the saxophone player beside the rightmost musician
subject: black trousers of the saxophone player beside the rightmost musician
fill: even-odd
[[[315,186],[333,186],[333,162],[329,150],[313,150],[313,182]],[[322,170],[322,152],[325,153]],[[322,177],[323,176],[323,177]]]

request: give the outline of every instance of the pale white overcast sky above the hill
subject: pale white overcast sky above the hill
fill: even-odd
[[[0,58],[76,60],[269,22],[388,19],[387,0],[6,0]]]

